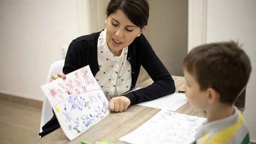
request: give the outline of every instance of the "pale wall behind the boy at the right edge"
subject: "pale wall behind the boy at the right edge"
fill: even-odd
[[[256,142],[256,0],[207,0],[206,43],[234,40],[243,44],[252,73],[243,116]],[[234,78],[235,79],[235,78]]]

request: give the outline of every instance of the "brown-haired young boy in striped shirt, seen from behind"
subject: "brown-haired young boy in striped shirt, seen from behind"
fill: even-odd
[[[245,52],[233,41],[205,44],[192,49],[182,67],[191,107],[207,112],[196,144],[249,144],[247,125],[234,106],[251,73]]]

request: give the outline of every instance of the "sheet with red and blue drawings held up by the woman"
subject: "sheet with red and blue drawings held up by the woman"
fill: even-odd
[[[66,136],[73,140],[110,114],[89,65],[41,86]]]

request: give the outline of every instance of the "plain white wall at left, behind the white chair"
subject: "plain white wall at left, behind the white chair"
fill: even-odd
[[[43,101],[40,86],[78,36],[75,0],[0,0],[0,92]]]

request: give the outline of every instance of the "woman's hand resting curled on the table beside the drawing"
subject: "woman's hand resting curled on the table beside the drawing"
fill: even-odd
[[[126,111],[130,106],[131,101],[125,96],[113,97],[109,104],[109,109],[112,112],[123,112]]]

